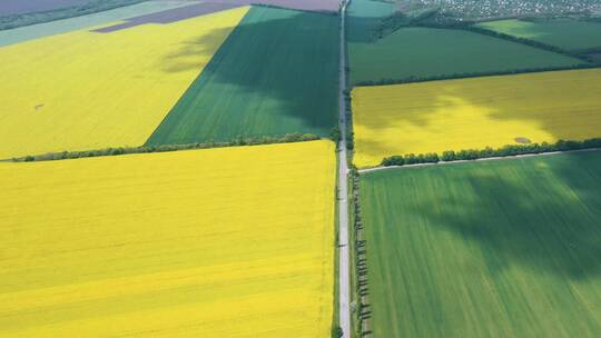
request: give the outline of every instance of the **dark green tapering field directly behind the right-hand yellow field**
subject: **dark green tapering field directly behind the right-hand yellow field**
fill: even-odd
[[[560,68],[575,58],[463,30],[402,28],[374,43],[348,43],[351,83]]]

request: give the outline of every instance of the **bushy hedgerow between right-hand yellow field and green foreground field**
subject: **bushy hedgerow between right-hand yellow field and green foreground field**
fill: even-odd
[[[381,166],[384,167],[398,167],[398,166],[408,166],[408,165],[421,165],[421,163],[437,163],[437,162],[452,162],[452,161],[462,161],[462,160],[476,160],[482,158],[492,158],[492,157],[508,157],[508,156],[518,156],[518,155],[530,155],[530,153],[543,153],[552,151],[570,151],[570,150],[582,150],[582,149],[595,149],[601,148],[601,138],[588,139],[584,141],[564,141],[560,140],[555,143],[531,143],[531,145],[511,145],[505,146],[499,149],[485,148],[481,150],[469,149],[460,151],[444,151],[442,156],[437,153],[421,153],[414,155],[408,153],[405,156],[391,156],[382,160]]]

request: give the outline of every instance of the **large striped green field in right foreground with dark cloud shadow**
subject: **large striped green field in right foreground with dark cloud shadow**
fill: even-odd
[[[376,337],[601,337],[601,152],[362,175]]]

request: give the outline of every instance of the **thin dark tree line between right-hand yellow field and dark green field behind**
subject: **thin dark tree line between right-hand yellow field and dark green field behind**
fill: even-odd
[[[480,78],[480,77],[492,77],[492,76],[512,76],[512,74],[532,73],[532,72],[592,69],[592,68],[599,68],[599,64],[581,63],[581,64],[573,64],[573,66],[568,66],[568,67],[523,68],[523,69],[514,69],[514,70],[463,72],[463,73],[440,74],[440,76],[431,76],[431,77],[411,76],[404,79],[381,79],[381,80],[375,80],[375,81],[362,81],[362,82],[357,82],[356,86],[390,86],[390,84],[404,84],[404,83],[426,82],[426,81],[467,79],[467,78]]]

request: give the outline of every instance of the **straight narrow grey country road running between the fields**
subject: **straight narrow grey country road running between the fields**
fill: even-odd
[[[349,280],[349,248],[348,248],[348,166],[346,163],[346,53],[345,53],[345,24],[347,0],[342,0],[341,9],[341,60],[339,60],[339,128],[341,142],[338,145],[338,290],[339,290],[339,326],[343,337],[351,338],[351,280]]]

